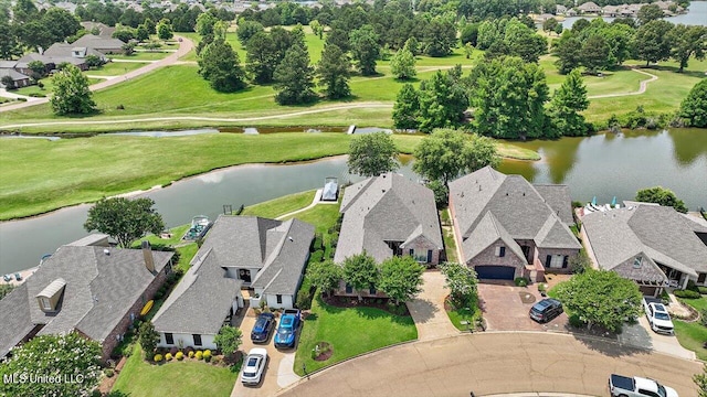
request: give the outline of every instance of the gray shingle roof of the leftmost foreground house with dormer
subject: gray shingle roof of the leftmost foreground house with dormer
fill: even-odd
[[[102,342],[128,312],[155,276],[145,267],[140,249],[114,249],[104,254],[104,247],[62,246],[27,279],[21,288],[10,293],[11,301],[22,302],[21,310],[0,304],[0,354],[12,345],[6,333],[31,324],[44,324],[39,334],[66,333],[74,329],[88,337]],[[152,251],[155,268],[160,271],[173,253]],[[59,310],[43,312],[36,302],[36,294],[57,278],[66,281]],[[27,303],[24,303],[27,302]],[[24,324],[20,326],[20,324]]]

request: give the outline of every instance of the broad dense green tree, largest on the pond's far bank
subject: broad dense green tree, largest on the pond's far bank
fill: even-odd
[[[474,127],[483,136],[541,138],[549,88],[535,63],[505,57],[484,63],[472,75]]]

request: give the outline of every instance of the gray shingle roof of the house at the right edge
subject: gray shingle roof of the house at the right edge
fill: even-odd
[[[707,272],[707,246],[695,234],[699,225],[673,207],[639,205],[592,213],[584,216],[583,227],[604,269],[644,253],[653,261],[693,277]]]

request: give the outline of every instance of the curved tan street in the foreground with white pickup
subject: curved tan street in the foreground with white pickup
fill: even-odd
[[[695,396],[694,361],[552,333],[481,333],[414,342],[335,365],[279,395],[608,395],[611,373],[652,377]]]

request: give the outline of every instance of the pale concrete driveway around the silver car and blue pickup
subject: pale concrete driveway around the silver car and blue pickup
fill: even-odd
[[[249,310],[243,322],[239,325],[243,331],[243,344],[241,351],[245,354],[253,347],[265,347],[267,350],[267,366],[265,367],[265,378],[260,385],[243,386],[241,384],[241,376],[235,382],[232,397],[250,397],[250,396],[273,396],[283,387],[287,387],[299,379],[299,376],[294,373],[293,367],[295,364],[295,351],[278,351],[273,344],[273,335],[267,340],[266,344],[254,344],[251,341],[251,331],[255,324],[255,314]]]

